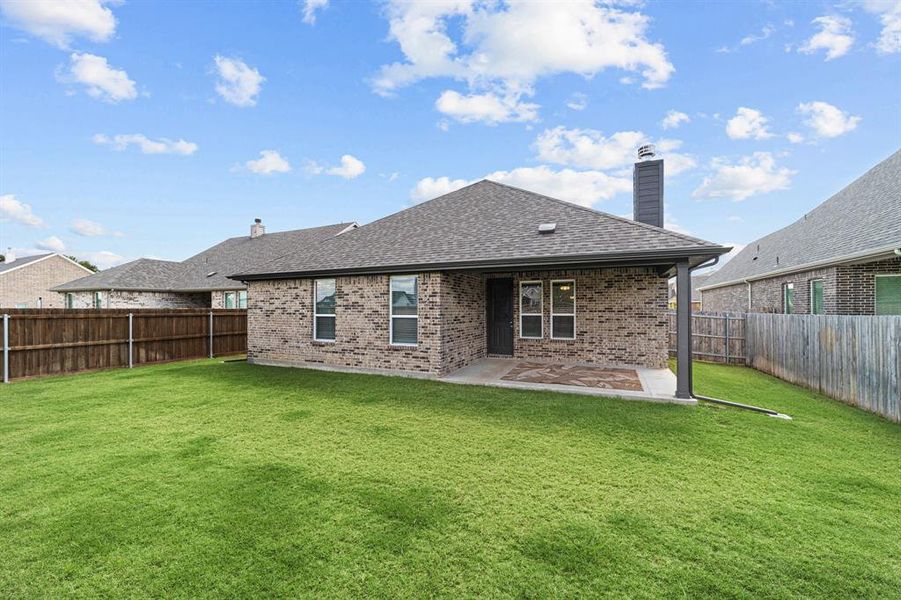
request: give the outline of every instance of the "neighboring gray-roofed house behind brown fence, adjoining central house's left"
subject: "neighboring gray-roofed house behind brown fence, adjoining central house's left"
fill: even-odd
[[[227,275],[252,269],[356,227],[266,233],[259,219],[249,236],[224,242],[182,262],[138,260],[54,288],[67,308],[246,308],[246,287]]]

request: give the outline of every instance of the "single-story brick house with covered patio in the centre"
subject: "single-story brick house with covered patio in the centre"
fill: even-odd
[[[635,213],[662,223],[655,185]],[[252,363],[432,377],[488,356],[662,368],[668,277],[728,250],[480,181],[233,277],[249,292]]]

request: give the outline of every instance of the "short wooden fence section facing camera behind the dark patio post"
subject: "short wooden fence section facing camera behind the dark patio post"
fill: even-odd
[[[676,355],[676,313],[670,312],[669,351]],[[692,313],[692,357],[727,364],[745,364],[745,315]]]

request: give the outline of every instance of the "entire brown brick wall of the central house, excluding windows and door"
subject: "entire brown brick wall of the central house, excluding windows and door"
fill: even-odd
[[[309,279],[249,283],[248,356],[252,361],[413,371],[442,375],[486,355],[487,277],[544,281],[545,337],[522,340],[514,302],[514,356],[550,360],[666,365],[666,279],[651,269],[541,271],[479,275],[422,273],[419,345],[388,342],[388,276],[337,278],[334,342],[312,339]],[[550,339],[550,280],[576,280],[576,339]]]

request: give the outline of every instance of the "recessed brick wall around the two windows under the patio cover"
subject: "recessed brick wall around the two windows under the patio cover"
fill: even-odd
[[[667,278],[647,267],[526,271],[513,277],[513,356],[664,368],[667,361]],[[576,339],[551,339],[551,280],[576,281]],[[544,337],[519,337],[519,282],[542,281]]]

